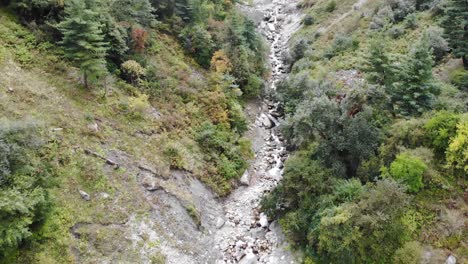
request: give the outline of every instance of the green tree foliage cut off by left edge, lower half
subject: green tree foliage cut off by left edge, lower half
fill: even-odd
[[[36,133],[34,124],[0,126],[0,259],[33,235],[51,206],[52,170]]]

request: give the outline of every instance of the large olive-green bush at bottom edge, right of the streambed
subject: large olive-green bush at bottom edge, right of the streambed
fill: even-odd
[[[321,258],[327,263],[391,263],[409,235],[401,223],[408,204],[404,188],[382,180],[354,201],[325,210],[318,236]]]

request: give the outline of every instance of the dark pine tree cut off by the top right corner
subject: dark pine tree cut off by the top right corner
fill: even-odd
[[[450,0],[442,21],[446,38],[457,58],[468,70],[468,0]]]

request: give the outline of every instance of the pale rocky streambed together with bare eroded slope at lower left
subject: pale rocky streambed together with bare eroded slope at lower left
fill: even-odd
[[[85,151],[105,161],[103,171],[108,175],[120,168],[126,192],[77,194],[89,202],[107,201],[102,210],[113,212],[70,229],[77,263],[300,263],[289,251],[278,223],[259,210],[261,199],[281,180],[288,155],[278,129],[281,111],[269,95],[286,74],[281,57],[300,26],[298,1],[254,0],[251,5],[239,5],[270,44],[272,69],[266,96],[246,109],[251,121],[247,136],[255,159],[241,186],[219,199],[188,172],[172,171],[171,177],[162,177],[152,164],[125,152]],[[128,214],[119,205],[122,199],[134,203],[140,213]]]

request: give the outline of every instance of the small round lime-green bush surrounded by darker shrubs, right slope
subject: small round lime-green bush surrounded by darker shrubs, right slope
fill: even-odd
[[[390,165],[390,175],[408,186],[409,192],[417,192],[424,187],[423,174],[427,165],[422,160],[408,154],[400,154]]]

